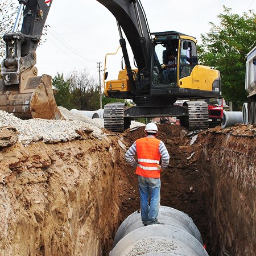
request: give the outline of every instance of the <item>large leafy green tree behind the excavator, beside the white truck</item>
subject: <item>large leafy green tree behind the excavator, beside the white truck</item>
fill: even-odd
[[[256,14],[251,10],[242,15],[231,11],[224,6],[223,13],[217,16],[220,23],[210,22],[210,32],[201,35],[199,61],[220,71],[225,100],[240,109],[246,101],[246,54],[256,46]]]

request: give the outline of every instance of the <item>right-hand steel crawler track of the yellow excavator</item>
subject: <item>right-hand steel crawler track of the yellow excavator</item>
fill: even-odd
[[[188,130],[209,128],[208,105],[205,101],[187,101]]]

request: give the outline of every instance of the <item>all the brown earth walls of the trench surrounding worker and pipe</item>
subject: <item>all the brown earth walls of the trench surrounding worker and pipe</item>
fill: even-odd
[[[77,133],[22,145],[15,129],[0,129],[0,255],[108,255],[119,224],[139,209],[124,154],[143,127],[102,138]],[[255,134],[253,126],[197,134],[159,125],[171,156],[161,204],[192,217],[209,255],[256,250]]]

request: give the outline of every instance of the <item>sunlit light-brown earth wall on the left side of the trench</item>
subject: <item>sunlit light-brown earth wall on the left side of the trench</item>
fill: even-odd
[[[112,138],[0,150],[0,255],[104,255],[118,222]]]

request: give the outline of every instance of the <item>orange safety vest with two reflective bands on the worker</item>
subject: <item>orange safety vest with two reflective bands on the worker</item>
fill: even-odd
[[[138,166],[135,174],[143,177],[160,177],[157,166],[161,155],[159,154],[160,140],[152,137],[138,139],[136,142]]]

